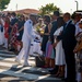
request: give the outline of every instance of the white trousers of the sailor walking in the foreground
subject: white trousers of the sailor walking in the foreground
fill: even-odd
[[[24,57],[24,65],[28,63],[27,59],[28,59],[28,55],[30,55],[30,48],[31,48],[31,42],[30,40],[27,40],[26,43],[23,42],[23,48],[21,49],[19,56],[16,57],[16,59],[20,61]]]

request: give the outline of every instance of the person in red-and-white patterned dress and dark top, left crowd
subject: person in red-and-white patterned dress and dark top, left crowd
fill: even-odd
[[[10,28],[9,28],[9,50],[15,50],[14,43],[16,40],[16,33],[17,33],[17,17],[15,12],[11,13],[11,22],[10,22]]]

